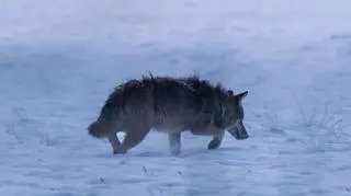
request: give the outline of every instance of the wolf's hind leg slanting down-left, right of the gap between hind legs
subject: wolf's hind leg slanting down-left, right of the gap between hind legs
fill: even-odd
[[[131,129],[126,132],[126,136],[118,148],[117,153],[126,153],[129,149],[134,148],[135,146],[139,145],[145,136],[150,131],[150,129]]]

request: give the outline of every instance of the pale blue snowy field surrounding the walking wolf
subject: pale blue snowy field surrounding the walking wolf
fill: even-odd
[[[1,196],[351,195],[348,0],[0,2]],[[248,90],[250,138],[87,134],[114,85],[199,73]]]

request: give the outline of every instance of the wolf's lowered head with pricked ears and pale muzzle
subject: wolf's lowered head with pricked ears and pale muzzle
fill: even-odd
[[[214,123],[218,128],[226,129],[236,139],[247,139],[249,135],[242,124],[245,115],[241,102],[248,91],[236,95],[234,95],[233,91],[228,91],[227,94],[222,103],[222,112],[215,116]]]

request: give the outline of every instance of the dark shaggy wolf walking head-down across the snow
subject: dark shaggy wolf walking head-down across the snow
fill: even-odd
[[[207,149],[219,148],[225,131],[237,140],[249,137],[244,126],[242,99],[197,76],[143,77],[121,83],[88,126],[95,138],[107,138],[113,153],[126,153],[151,130],[167,132],[172,155],[181,153],[181,134],[212,136]],[[117,132],[125,132],[123,142]]]

